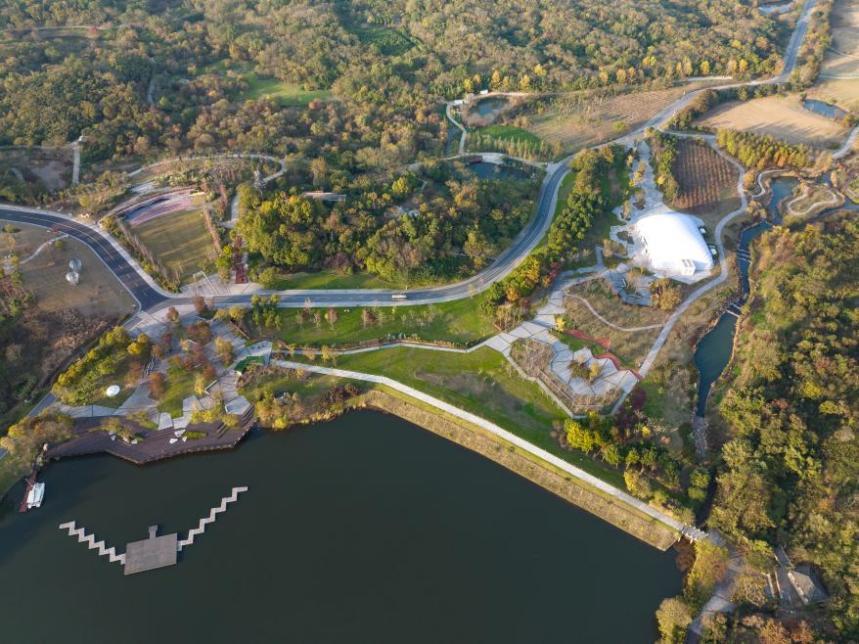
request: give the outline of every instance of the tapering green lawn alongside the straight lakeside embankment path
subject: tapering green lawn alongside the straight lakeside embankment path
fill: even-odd
[[[337,367],[387,376],[492,421],[529,442],[626,489],[620,472],[580,452],[561,449],[553,425],[566,418],[536,384],[523,380],[498,352],[468,354],[395,348],[341,356]]]

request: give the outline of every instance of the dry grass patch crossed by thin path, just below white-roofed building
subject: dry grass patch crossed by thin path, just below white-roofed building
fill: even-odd
[[[569,294],[586,299],[603,318],[623,329],[662,325],[668,318],[668,313],[655,308],[624,304],[602,280],[579,284],[573,287]],[[608,341],[609,350],[626,365],[639,366],[659,335],[658,328],[643,331],[621,331],[612,328],[591,313],[577,297],[567,297],[565,308],[568,329],[582,331],[597,340]]]

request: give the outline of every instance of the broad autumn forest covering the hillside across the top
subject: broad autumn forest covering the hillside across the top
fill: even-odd
[[[344,172],[435,149],[439,101],[466,91],[750,75],[779,58],[776,25],[729,0],[15,0],[0,30],[0,144],[83,134],[91,161],[229,147]],[[337,100],[254,98],[265,78]]]

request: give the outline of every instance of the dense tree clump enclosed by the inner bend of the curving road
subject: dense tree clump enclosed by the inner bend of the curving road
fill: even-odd
[[[328,268],[416,284],[472,274],[531,218],[537,182],[480,179],[466,166],[436,163],[353,189],[333,206],[242,192],[236,231],[259,260],[258,278]]]

